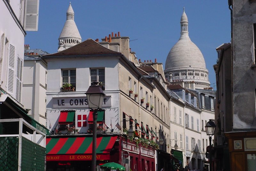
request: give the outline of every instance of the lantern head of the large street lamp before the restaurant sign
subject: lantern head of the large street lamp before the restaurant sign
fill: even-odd
[[[89,108],[101,109],[105,94],[99,86],[90,86],[86,92]]]

